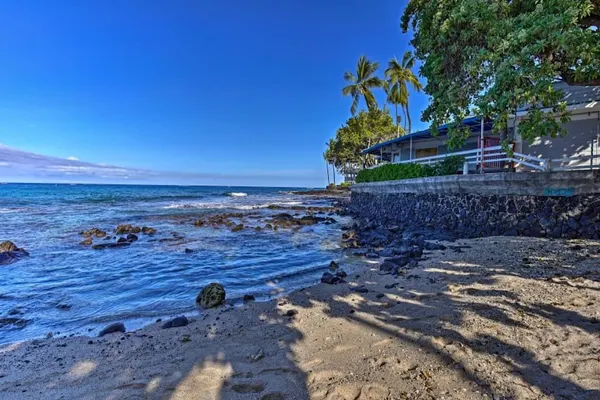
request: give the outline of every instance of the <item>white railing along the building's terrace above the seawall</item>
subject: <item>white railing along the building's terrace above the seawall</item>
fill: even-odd
[[[517,152],[513,152],[512,155],[509,155],[502,146],[485,147],[483,151],[481,148],[478,148],[473,150],[441,154],[439,156],[394,161],[392,164],[416,163],[431,165],[452,156],[464,157],[466,164],[469,166],[475,166],[475,169],[480,167],[480,171],[482,164],[483,171],[486,171],[503,169],[505,163],[507,162],[513,163],[515,168],[521,167],[522,169],[529,169],[533,171],[572,171],[600,168],[600,162],[594,162],[596,159],[600,159],[600,155],[544,159]],[[568,164],[564,165],[565,163]],[[389,164],[389,162],[380,163],[369,168],[376,168],[383,164]]]

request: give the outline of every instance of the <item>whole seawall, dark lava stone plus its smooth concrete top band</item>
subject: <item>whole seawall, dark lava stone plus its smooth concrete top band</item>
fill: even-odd
[[[358,219],[460,237],[600,238],[598,172],[498,173],[363,183]]]

